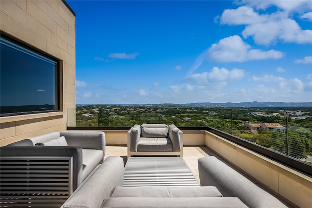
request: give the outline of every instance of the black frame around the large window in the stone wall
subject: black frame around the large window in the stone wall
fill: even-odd
[[[18,38],[15,38],[15,37],[12,37],[10,36],[9,34],[3,32],[3,31],[0,31],[0,37],[7,40],[7,41],[10,41],[14,44],[17,44],[18,46],[24,48],[24,49],[27,49],[37,55],[40,55],[42,57],[45,57],[45,58],[48,58],[52,61],[55,61],[57,63],[57,67],[56,67],[56,71],[55,71],[55,99],[56,99],[56,102],[55,102],[55,105],[56,105],[56,109],[54,110],[38,110],[38,111],[25,111],[25,112],[14,112],[14,113],[1,113],[0,112],[0,117],[7,117],[7,116],[17,116],[17,115],[27,115],[27,114],[37,114],[37,113],[52,113],[52,112],[61,112],[62,111],[62,106],[61,106],[61,90],[62,90],[62,86],[61,86],[61,70],[62,70],[62,61],[57,58],[57,57],[54,57],[50,54],[47,54],[45,52],[43,52],[42,50],[30,45],[29,43],[23,41],[23,40],[20,40]]]

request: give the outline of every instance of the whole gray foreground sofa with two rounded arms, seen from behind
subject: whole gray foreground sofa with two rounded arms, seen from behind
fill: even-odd
[[[110,156],[61,208],[286,208],[224,165],[214,157],[200,158],[200,187],[122,187],[123,159]],[[211,181],[217,186],[209,185]],[[227,196],[229,192],[231,196]]]

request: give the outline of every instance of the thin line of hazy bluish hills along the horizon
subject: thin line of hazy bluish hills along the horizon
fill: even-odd
[[[99,104],[77,104],[77,106]],[[312,107],[312,102],[241,102],[241,103],[159,103],[159,104],[100,104],[121,106],[190,106],[190,107]]]

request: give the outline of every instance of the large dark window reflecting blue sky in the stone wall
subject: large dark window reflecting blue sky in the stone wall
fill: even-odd
[[[0,115],[59,111],[59,61],[0,38]]]

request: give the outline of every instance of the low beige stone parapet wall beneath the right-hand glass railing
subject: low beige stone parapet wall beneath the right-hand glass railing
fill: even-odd
[[[237,168],[254,177],[300,208],[312,204],[312,178],[280,163],[241,147],[211,132],[205,132],[206,146]]]

